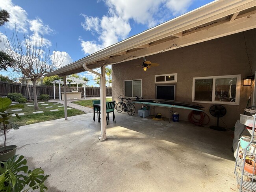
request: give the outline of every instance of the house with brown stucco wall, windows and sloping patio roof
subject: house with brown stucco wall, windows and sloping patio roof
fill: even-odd
[[[256,100],[254,85],[243,86],[243,79],[256,72],[256,1],[219,0],[150,28],[117,44],[88,55],[46,76],[67,76],[112,65],[112,98],[174,99],[200,104],[210,118],[214,104],[227,113],[220,126],[233,127],[247,107]],[[136,67],[143,57],[159,66]],[[93,72],[93,71],[91,71]],[[103,77],[104,84],[104,74]],[[101,85],[103,89],[103,85]],[[104,85],[105,87],[105,85]],[[104,94],[104,93],[103,93]],[[102,96],[104,98],[105,95]],[[159,97],[160,96],[160,97]],[[139,109],[141,105],[136,105]],[[180,120],[188,120],[187,109],[173,108]],[[158,107],[156,113],[168,117]],[[103,130],[102,126],[102,130]]]

